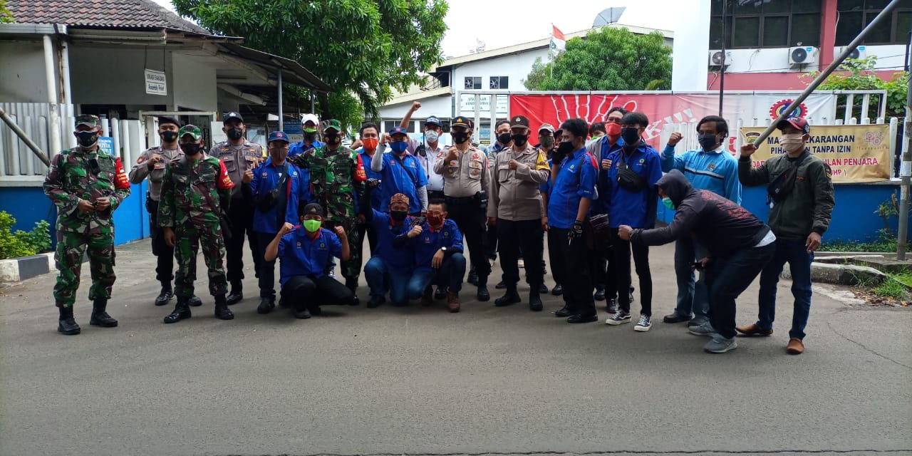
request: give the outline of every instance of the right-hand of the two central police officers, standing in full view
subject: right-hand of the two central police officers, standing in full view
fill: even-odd
[[[506,295],[494,301],[495,306],[510,306],[522,301],[516,291],[519,282],[520,250],[530,267],[529,308],[542,310],[539,296],[544,252],[543,230],[547,224],[539,186],[548,181],[551,170],[544,151],[529,143],[529,119],[513,116],[510,122],[513,146],[497,153],[492,166],[491,202],[488,204],[488,225],[495,226],[501,246],[501,265]]]

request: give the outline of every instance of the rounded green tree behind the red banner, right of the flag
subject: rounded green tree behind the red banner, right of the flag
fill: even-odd
[[[523,82],[535,90],[668,90],[671,47],[659,32],[637,35],[603,26],[567,41],[554,62],[532,67]]]

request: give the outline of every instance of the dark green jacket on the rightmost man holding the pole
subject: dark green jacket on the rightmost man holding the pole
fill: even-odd
[[[751,159],[738,160],[738,179],[745,187],[767,185],[792,166],[782,154],[751,169]],[[798,167],[795,185],[785,200],[776,202],[770,211],[772,233],[781,239],[805,239],[811,232],[823,234],[830,226],[835,205],[833,171],[830,165],[813,154]]]

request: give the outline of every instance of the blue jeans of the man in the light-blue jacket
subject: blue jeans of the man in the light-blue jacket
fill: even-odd
[[[675,310],[679,315],[694,315],[694,318],[708,318],[710,312],[710,292],[706,288],[706,274],[700,273],[700,280],[694,282],[694,272],[690,264],[708,256],[702,245],[690,237],[682,237],[675,243],[675,275],[678,277],[678,305]]]

